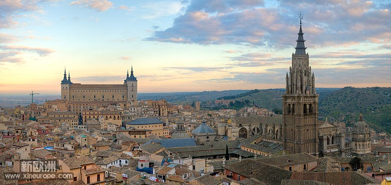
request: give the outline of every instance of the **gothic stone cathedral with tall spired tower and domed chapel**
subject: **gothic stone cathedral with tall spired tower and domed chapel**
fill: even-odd
[[[282,94],[282,116],[231,117],[218,123],[218,134],[228,140],[249,138],[260,132],[262,141],[283,145],[289,153],[306,152],[323,156],[370,154],[370,131],[362,115],[352,131],[318,121],[319,94],[315,91],[315,74],[305,52],[302,21],[292,66],[286,73]]]

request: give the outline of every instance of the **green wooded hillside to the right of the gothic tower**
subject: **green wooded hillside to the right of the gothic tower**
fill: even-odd
[[[352,126],[360,111],[372,128],[391,133],[391,88],[345,87],[319,101],[319,116],[346,122]]]

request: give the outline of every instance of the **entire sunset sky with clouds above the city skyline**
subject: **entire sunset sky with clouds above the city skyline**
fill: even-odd
[[[390,0],[0,0],[0,94],[284,88],[300,12],[316,87],[391,86]]]

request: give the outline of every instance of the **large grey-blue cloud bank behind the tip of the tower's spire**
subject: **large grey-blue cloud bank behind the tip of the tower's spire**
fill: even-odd
[[[147,40],[175,43],[241,44],[292,47],[299,30],[297,14],[305,10],[304,38],[314,47],[390,43],[391,3],[364,0],[194,0],[173,25]],[[315,44],[314,44],[315,43]]]

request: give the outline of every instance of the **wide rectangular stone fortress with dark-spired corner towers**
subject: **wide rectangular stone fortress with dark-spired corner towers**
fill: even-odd
[[[61,81],[61,99],[69,102],[127,102],[137,100],[137,78],[131,68],[124,84],[80,84],[71,82],[70,75]]]

